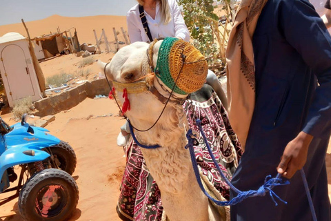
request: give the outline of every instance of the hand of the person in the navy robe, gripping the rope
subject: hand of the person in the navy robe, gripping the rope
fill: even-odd
[[[290,179],[294,173],[303,168],[312,138],[312,135],[301,131],[294,140],[288,143],[277,167],[278,173]]]

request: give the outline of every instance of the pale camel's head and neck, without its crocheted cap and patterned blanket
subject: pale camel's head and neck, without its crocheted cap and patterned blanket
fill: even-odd
[[[157,41],[150,49],[154,67],[157,65],[161,43],[162,40]],[[150,73],[146,53],[149,46],[150,44],[144,42],[136,42],[121,48],[109,64],[101,62],[101,66],[106,66],[108,80],[130,83]],[[147,88],[154,86],[161,95],[169,97],[170,93],[164,90],[168,87],[161,85],[162,83],[157,80],[157,77],[146,77],[146,81]],[[170,90],[168,88],[168,91]],[[116,90],[120,106],[125,102],[122,95],[123,90]],[[186,97],[186,95],[180,94],[176,94],[176,96]],[[126,116],[134,127],[142,130],[150,128],[157,121],[165,105],[150,90],[140,93],[128,92],[128,99],[130,100],[130,111],[126,112]],[[167,220],[230,220],[229,208],[215,206],[197,184],[190,153],[188,149],[184,148],[188,143],[185,137],[186,130],[186,117],[182,105],[170,100],[159,122],[153,128],[146,132],[134,131],[134,135],[141,144],[159,144],[161,146],[155,149],[141,148],[141,151],[148,169],[161,191]],[[225,200],[218,193],[213,195],[218,200]]]

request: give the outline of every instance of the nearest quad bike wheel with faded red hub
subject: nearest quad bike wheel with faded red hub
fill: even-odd
[[[45,169],[30,177],[19,193],[19,213],[27,221],[64,221],[76,209],[78,186],[65,171]]]

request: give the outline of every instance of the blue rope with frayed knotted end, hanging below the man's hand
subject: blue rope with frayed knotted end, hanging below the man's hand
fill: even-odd
[[[197,124],[200,128],[201,127],[201,121],[199,119],[197,119]],[[208,152],[211,152],[210,146],[209,146],[208,142],[206,142],[206,137],[205,137],[205,134],[203,133],[203,131],[201,131],[201,134],[203,136],[203,140],[205,140],[205,144],[208,148]],[[277,204],[277,202],[274,198],[277,198],[277,200],[280,200],[281,202],[283,202],[285,204],[287,203],[284,200],[281,200],[281,198],[279,198],[279,196],[276,193],[274,193],[274,191],[272,191],[272,188],[274,188],[274,186],[282,186],[282,185],[290,184],[290,182],[288,180],[284,182],[281,179],[280,174],[277,175],[277,177],[274,177],[274,178],[272,178],[271,175],[268,175],[267,177],[265,177],[265,182],[264,182],[263,186],[261,186],[257,191],[252,191],[252,190],[250,190],[250,191],[239,191],[237,188],[235,188],[231,184],[231,182],[228,180],[228,178],[225,177],[225,175],[222,173],[221,169],[219,168],[219,165],[216,162],[214,156],[212,154],[210,154],[210,156],[212,157],[212,161],[214,162],[215,166],[217,166],[217,169],[219,170],[219,173],[221,174],[221,177],[223,177],[223,180],[230,186],[231,189],[237,190],[236,192],[238,193],[237,197],[233,198],[230,201],[215,200],[214,198],[212,198],[212,196],[209,195],[209,193],[207,193],[207,191],[205,191],[205,188],[203,187],[203,184],[201,182],[199,169],[198,169],[198,164],[197,164],[197,160],[195,159],[195,154],[194,154],[194,148],[193,148],[193,146],[194,146],[194,144],[193,144],[194,135],[192,133],[192,129],[190,129],[188,131],[188,133],[186,134],[186,137],[188,138],[188,144],[185,146],[185,148],[188,148],[189,151],[190,151],[193,171],[194,171],[195,177],[197,178],[197,182],[200,186],[200,189],[215,204],[217,204],[219,206],[233,206],[233,205],[235,205],[239,202],[242,202],[243,200],[245,200],[247,198],[253,198],[253,197],[257,197],[257,196],[264,196],[268,192],[270,194],[270,197],[272,198],[272,201],[274,201],[274,204],[276,204],[276,206],[278,204]]]

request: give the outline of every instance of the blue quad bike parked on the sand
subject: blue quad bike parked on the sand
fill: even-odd
[[[74,150],[45,128],[30,126],[26,117],[13,126],[0,117],[0,193],[16,191],[0,206],[19,197],[23,220],[68,220],[79,199],[71,176],[77,163]],[[19,177],[14,166],[21,167]],[[17,186],[9,188],[17,178]]]

